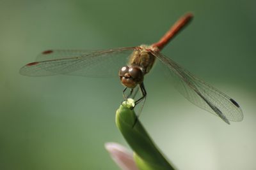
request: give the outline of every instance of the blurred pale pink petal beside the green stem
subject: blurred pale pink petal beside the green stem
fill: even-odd
[[[132,153],[118,143],[105,143],[105,148],[112,159],[123,170],[139,170],[136,166]]]

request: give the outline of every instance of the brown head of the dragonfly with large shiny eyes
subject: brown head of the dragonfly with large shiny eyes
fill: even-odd
[[[143,72],[138,66],[124,66],[118,73],[120,81],[123,85],[129,88],[134,88],[136,85],[143,82]]]

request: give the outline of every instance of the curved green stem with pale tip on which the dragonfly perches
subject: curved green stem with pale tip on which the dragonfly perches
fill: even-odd
[[[132,99],[121,104],[116,111],[116,125],[134,151],[134,160],[137,166],[143,170],[174,169],[154,145],[140,120],[136,119],[133,106],[134,101]]]

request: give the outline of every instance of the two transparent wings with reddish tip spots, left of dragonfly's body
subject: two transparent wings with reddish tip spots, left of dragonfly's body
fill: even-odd
[[[120,67],[126,65],[134,47],[110,50],[47,50],[26,64],[20,74],[26,76],[50,76],[70,74],[88,77],[116,76]]]

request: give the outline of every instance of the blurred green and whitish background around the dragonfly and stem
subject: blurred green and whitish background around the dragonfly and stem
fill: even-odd
[[[156,66],[140,120],[179,169],[256,169],[256,1],[0,0],[0,169],[118,169],[104,143],[115,127],[116,78],[19,74],[47,49],[107,49],[157,41],[195,20],[163,53],[241,105],[225,124],[189,103]],[[127,145],[126,145],[127,146]]]

